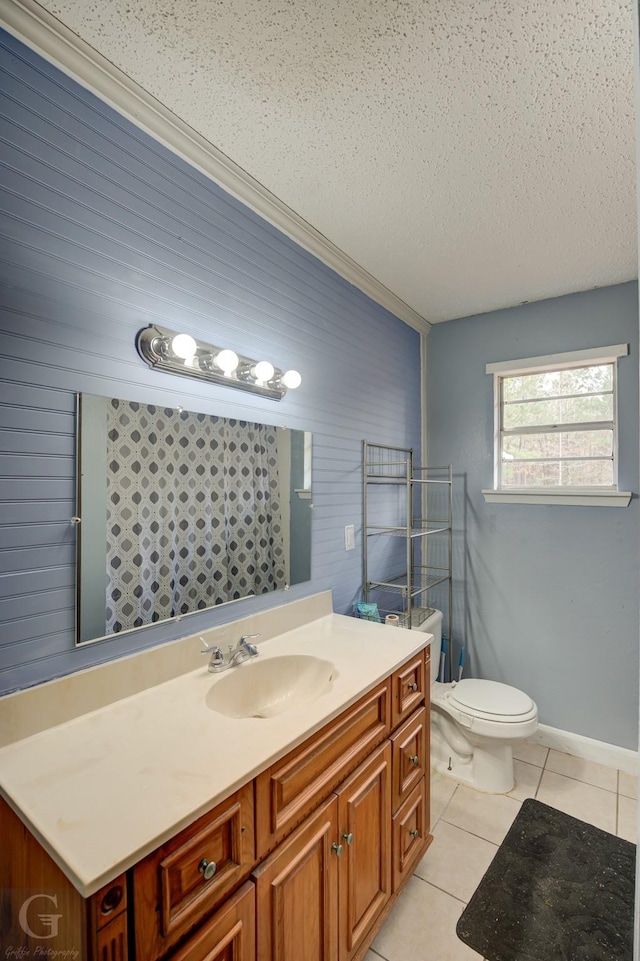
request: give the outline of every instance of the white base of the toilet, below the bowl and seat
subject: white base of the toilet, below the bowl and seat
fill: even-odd
[[[432,719],[433,720],[433,719]],[[431,768],[487,794],[508,794],[515,787],[511,745],[487,740],[470,753],[458,753],[432,724]]]

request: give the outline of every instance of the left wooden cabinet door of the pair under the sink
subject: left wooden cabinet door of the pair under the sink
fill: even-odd
[[[337,839],[332,796],[254,871],[258,961],[336,961]]]

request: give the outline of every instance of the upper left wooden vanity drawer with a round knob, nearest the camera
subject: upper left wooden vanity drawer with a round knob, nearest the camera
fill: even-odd
[[[134,868],[138,961],[166,952],[249,876],[254,863],[249,783]]]

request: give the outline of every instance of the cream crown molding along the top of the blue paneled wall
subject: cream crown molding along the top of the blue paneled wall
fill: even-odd
[[[3,0],[0,25],[405,324],[429,332],[417,311],[34,0]]]

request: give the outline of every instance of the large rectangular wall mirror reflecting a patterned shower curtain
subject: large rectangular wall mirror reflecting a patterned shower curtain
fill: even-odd
[[[307,431],[78,395],[76,643],[311,577]]]

